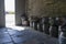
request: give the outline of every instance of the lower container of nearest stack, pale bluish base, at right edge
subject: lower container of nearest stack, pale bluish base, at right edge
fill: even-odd
[[[59,41],[59,44],[66,44],[66,23],[61,28],[58,41]]]

